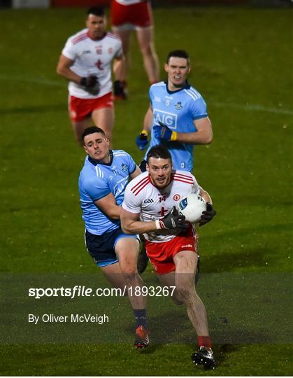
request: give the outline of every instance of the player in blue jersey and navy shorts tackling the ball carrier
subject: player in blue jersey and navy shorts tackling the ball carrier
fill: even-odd
[[[80,172],[78,188],[85,221],[85,244],[94,262],[114,287],[126,288],[136,317],[135,346],[148,346],[143,280],[137,271],[139,239],[120,227],[121,204],[129,178],[141,174],[125,151],[109,149],[109,140],[99,127],[83,132],[87,157]],[[136,293],[135,295],[131,295]]]

